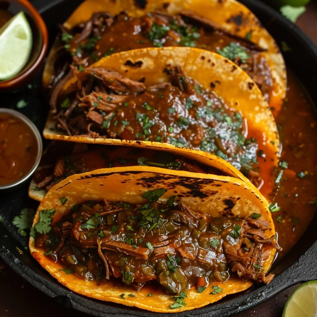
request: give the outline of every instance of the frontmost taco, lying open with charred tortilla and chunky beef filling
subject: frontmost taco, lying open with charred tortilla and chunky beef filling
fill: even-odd
[[[64,286],[153,312],[268,283],[278,248],[252,185],[148,166],[64,179],[43,198],[33,230],[32,256]]]

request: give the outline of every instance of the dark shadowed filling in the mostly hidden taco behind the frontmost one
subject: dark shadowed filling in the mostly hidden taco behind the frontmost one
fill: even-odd
[[[49,191],[70,175],[100,168],[118,166],[156,166],[175,171],[189,171],[228,176],[215,167],[187,159],[181,155],[127,147],[89,147],[87,144],[69,143],[51,146],[43,155],[40,168],[34,173],[32,190]],[[84,151],[78,152],[81,147]],[[72,152],[73,151],[73,152]],[[35,185],[35,186],[34,186]]]

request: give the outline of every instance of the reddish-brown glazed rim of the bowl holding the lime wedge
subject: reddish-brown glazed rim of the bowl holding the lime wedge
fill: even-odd
[[[34,20],[34,23],[36,24],[36,27],[40,32],[40,36],[42,37],[42,49],[39,51],[34,63],[31,64],[29,68],[20,71],[18,74],[16,74],[14,77],[12,77],[9,80],[0,81],[0,89],[13,88],[16,85],[20,84],[22,81],[24,81],[27,77],[29,77],[40,66],[48,50],[49,34],[48,34],[46,24],[44,20],[42,19],[42,16],[40,15],[40,13],[27,0],[13,0],[13,1],[22,4],[23,7],[25,7],[29,11],[30,16]]]

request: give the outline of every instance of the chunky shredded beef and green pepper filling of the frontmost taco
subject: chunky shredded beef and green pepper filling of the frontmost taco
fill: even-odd
[[[266,238],[269,223],[261,214],[210,217],[175,196],[158,202],[165,192],[145,192],[144,204],[107,199],[76,204],[49,230],[41,221],[35,225],[36,247],[60,262],[66,274],[99,284],[121,280],[136,290],[154,283],[168,294],[191,287],[202,292],[208,283],[236,274],[243,280],[271,281],[274,275],[262,272],[269,257],[262,249],[276,245],[275,235]],[[60,200],[65,204],[67,198]],[[54,211],[40,211],[40,219]]]

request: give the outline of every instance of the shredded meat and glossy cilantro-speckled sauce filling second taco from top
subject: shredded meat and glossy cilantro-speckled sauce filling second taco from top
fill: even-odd
[[[170,143],[214,153],[245,173],[257,164],[241,113],[180,68],[166,68],[170,81],[149,87],[107,68],[74,72],[81,88],[51,100],[57,128],[69,136]]]

